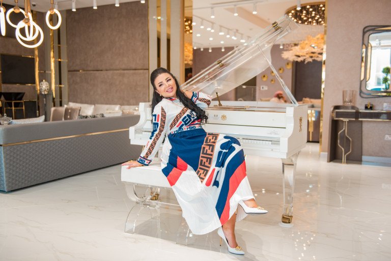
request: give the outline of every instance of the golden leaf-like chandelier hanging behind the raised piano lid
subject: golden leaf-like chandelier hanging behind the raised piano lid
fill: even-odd
[[[291,45],[288,51],[284,51],[281,56],[289,61],[303,62],[306,64],[312,61],[322,61],[324,48],[324,34],[307,38],[298,45]]]

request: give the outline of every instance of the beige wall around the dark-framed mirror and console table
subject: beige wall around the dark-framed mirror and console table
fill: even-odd
[[[364,99],[358,95],[362,29],[367,25],[391,24],[389,0],[328,0],[327,5],[327,59],[323,107],[322,152],[327,152],[330,109],[342,104],[342,90],[355,90],[355,105],[363,109],[367,102],[382,109],[391,98]],[[390,134],[391,122],[363,123],[362,155],[391,157],[391,142],[384,141]],[[388,133],[387,133],[388,132]]]

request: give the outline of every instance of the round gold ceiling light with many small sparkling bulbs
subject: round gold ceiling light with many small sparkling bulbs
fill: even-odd
[[[289,8],[285,13],[294,21],[301,24],[323,25],[325,2],[302,5],[300,10],[296,6]]]

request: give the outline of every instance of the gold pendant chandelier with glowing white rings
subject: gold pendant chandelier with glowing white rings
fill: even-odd
[[[3,6],[3,1],[0,6],[0,30],[2,31],[2,35],[6,35],[6,22],[5,17],[7,18],[7,22],[14,28],[16,28],[15,36],[18,42],[28,48],[35,48],[39,46],[43,42],[43,32],[41,27],[37,23],[33,21],[33,15],[30,7],[30,0],[24,1],[24,10],[18,7],[18,0],[15,0],[15,7],[11,8],[7,11],[5,15],[6,8]],[[55,30],[61,25],[61,14],[57,10],[57,8],[53,8],[53,0],[50,0],[51,8],[46,13],[46,24],[47,26]],[[10,19],[10,15],[12,13],[22,13],[24,15],[24,19],[20,20],[17,24],[13,24]],[[56,25],[52,25],[49,21],[50,15],[57,14],[58,22]],[[24,28],[24,30],[22,30]],[[32,43],[29,43],[32,42]]]

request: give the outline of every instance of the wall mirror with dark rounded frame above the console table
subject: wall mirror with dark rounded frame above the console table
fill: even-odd
[[[362,32],[360,96],[391,97],[391,25],[370,25]]]

